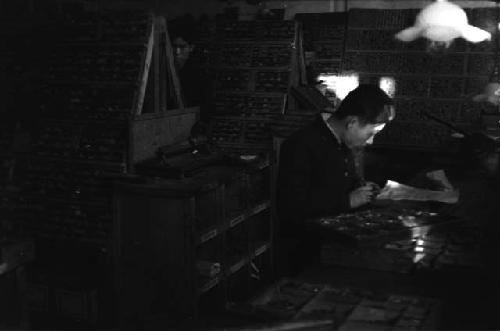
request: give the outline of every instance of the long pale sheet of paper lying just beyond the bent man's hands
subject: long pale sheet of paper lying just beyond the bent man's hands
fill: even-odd
[[[378,200],[414,200],[439,201],[444,203],[458,202],[457,190],[432,191],[420,189],[389,180],[377,196]]]

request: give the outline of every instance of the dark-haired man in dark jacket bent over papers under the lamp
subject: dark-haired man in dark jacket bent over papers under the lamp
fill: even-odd
[[[318,253],[320,241],[306,227],[307,219],[347,212],[374,198],[377,186],[360,176],[354,154],[371,144],[393,118],[389,96],[378,86],[360,85],[332,114],[318,116],[283,142],[277,183],[278,235],[299,243],[295,258]]]

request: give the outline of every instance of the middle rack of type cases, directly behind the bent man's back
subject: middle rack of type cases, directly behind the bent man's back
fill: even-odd
[[[218,22],[216,42],[214,141],[228,151],[269,151],[272,123],[305,76],[300,23]]]

